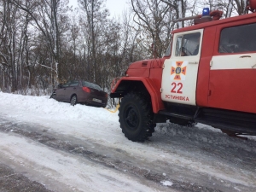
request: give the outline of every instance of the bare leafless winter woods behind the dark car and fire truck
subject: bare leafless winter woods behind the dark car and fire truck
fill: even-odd
[[[131,62],[163,56],[173,29],[193,25],[172,20],[204,7],[247,14],[247,0],[127,0],[130,9],[111,18],[105,2],[0,0],[0,90],[50,94],[69,79],[109,90]]]

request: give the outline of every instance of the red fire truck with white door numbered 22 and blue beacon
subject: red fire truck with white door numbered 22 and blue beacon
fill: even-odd
[[[143,142],[156,123],[203,123],[230,136],[256,135],[256,1],[252,12],[219,20],[204,10],[172,32],[163,58],[132,63],[113,83],[125,137]]]

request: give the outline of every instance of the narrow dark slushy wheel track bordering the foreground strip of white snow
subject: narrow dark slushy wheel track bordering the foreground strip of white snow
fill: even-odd
[[[30,128],[28,128],[30,127]],[[28,128],[28,130],[27,130]],[[8,120],[3,120],[0,124],[0,131],[3,132],[13,132],[15,134],[19,134],[22,137],[27,137],[32,139],[35,142],[42,143],[50,148],[55,148],[61,151],[65,151],[71,154],[76,154],[86,158],[87,160],[91,160],[97,164],[101,164],[102,166],[106,166],[108,168],[113,168],[114,170],[118,170],[119,172],[123,172],[125,174],[135,175],[136,177],[141,177],[148,181],[152,181],[160,187],[165,187],[166,189],[172,189],[177,191],[209,191],[209,192],[220,192],[218,189],[211,189],[205,186],[201,186],[196,183],[186,183],[178,180],[174,180],[163,174],[162,172],[154,172],[150,169],[145,169],[139,166],[132,165],[124,160],[115,160],[109,156],[96,154],[93,150],[90,150],[88,146],[82,146],[76,143],[68,142],[66,139],[58,139],[56,137],[49,136],[47,134],[47,130],[43,129],[43,131],[31,131],[34,129],[31,125],[22,125],[11,123]],[[34,129],[36,130],[36,129]],[[118,154],[117,150],[117,154]],[[121,151],[122,152],[122,151]],[[172,181],[172,182],[171,182]]]

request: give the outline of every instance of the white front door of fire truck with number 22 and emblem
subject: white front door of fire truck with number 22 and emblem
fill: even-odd
[[[195,105],[196,79],[201,56],[203,29],[175,33],[172,54],[162,75],[161,99]]]

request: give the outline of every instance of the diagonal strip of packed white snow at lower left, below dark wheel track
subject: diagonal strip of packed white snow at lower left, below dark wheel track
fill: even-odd
[[[28,143],[24,138],[6,137],[3,133],[0,133],[0,137],[2,150],[4,146],[11,149],[4,152],[5,156],[10,157],[9,160],[14,160],[26,168],[33,168],[34,172],[41,172],[41,174],[52,178],[54,182],[70,183],[72,181],[71,189],[74,191],[83,189],[92,192],[111,191],[109,189],[112,191],[119,191],[119,189],[122,189],[121,191],[131,191],[132,189],[153,191],[137,183],[131,177],[106,169],[103,166],[95,166],[89,160],[76,160],[67,154],[55,153],[54,150],[44,148],[43,145],[36,146],[37,143]],[[36,161],[34,160],[35,157]],[[100,189],[98,187],[99,182],[104,183]],[[124,186],[124,183],[127,186]],[[123,189],[124,187],[125,189]]]

